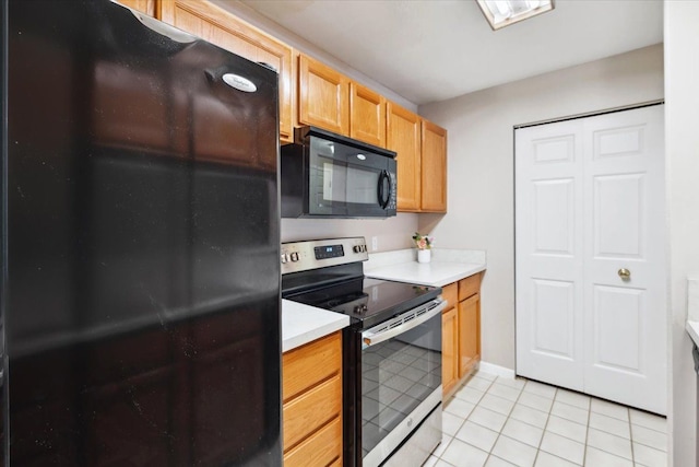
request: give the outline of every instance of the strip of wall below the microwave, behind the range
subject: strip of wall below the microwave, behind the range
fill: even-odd
[[[376,252],[389,252],[413,246],[413,233],[417,230],[417,214],[399,213],[394,218],[380,219],[282,219],[282,242],[298,240],[364,236],[369,252],[371,237],[377,240]]]

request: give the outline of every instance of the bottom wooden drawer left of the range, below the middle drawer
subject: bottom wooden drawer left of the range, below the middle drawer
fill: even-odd
[[[342,462],[342,422],[331,421],[311,437],[284,455],[284,467],[325,467]]]

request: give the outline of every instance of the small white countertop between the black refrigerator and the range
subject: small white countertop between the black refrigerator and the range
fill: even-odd
[[[350,326],[350,316],[282,300],[282,352]]]

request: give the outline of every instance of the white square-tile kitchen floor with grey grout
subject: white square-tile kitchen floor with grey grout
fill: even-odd
[[[666,467],[664,417],[478,372],[445,405],[424,467]]]

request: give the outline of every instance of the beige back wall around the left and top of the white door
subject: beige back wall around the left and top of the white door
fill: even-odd
[[[656,45],[419,107],[449,131],[449,212],[423,214],[419,230],[440,247],[487,250],[484,361],[514,369],[513,126],[662,97]]]

